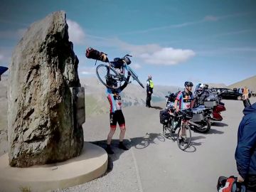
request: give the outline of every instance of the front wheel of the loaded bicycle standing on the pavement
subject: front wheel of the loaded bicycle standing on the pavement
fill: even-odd
[[[188,148],[188,146],[191,144],[191,128],[188,125],[185,125],[186,129],[184,129],[184,132],[181,134],[180,137],[180,132],[181,132],[181,127],[178,129],[178,139],[177,139],[177,144],[178,148],[184,151],[185,149]]]

